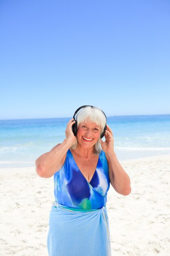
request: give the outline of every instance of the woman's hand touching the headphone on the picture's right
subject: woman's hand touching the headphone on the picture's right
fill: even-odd
[[[110,127],[107,125],[106,128],[106,132],[104,133],[104,137],[106,139],[106,141],[102,141],[102,139],[100,139],[100,143],[102,146],[102,150],[105,153],[111,153],[114,152],[114,148],[113,148],[113,144],[114,144],[114,139],[113,139],[113,132],[110,129]]]

